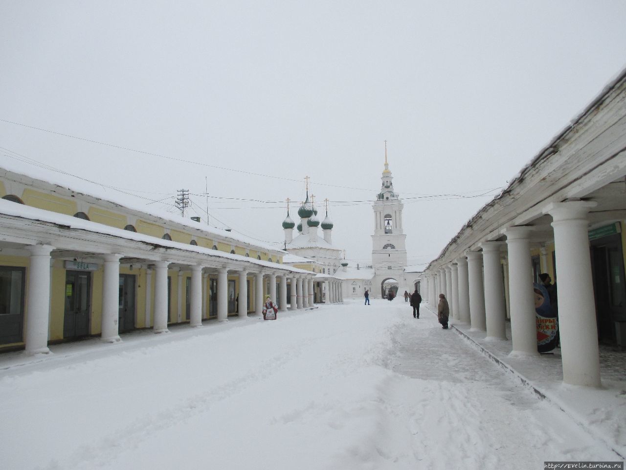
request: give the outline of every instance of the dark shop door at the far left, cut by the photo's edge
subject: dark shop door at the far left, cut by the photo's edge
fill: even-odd
[[[0,344],[23,339],[25,278],[25,268],[0,267]]]

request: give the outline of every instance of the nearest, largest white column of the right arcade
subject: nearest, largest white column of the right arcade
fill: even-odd
[[[560,202],[544,211],[553,218],[563,382],[587,387],[601,385],[587,220],[595,206]]]

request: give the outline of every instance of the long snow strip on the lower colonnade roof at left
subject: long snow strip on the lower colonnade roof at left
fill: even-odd
[[[247,263],[257,264],[258,266],[262,266],[264,268],[283,269],[286,271],[293,271],[295,273],[310,273],[310,271],[292,268],[291,266],[285,266],[284,264],[270,263],[269,261],[262,261],[260,259],[250,258],[249,256],[226,253],[225,251],[217,251],[210,248],[204,248],[203,246],[180,243],[177,241],[156,238],[139,232],[131,232],[124,229],[118,229],[116,227],[98,224],[97,222],[79,219],[78,217],[67,216],[66,214],[59,214],[58,212],[51,212],[44,209],[38,209],[36,207],[26,206],[24,204],[18,204],[17,202],[7,201],[6,199],[0,199],[0,214],[5,214],[7,216],[13,217],[21,217],[23,219],[29,219],[32,221],[49,222],[51,224],[56,224],[63,227],[111,235],[127,240],[141,241],[150,244],[159,244],[161,246],[169,248],[183,249],[185,251],[192,251],[208,256],[214,256],[215,258],[230,259],[233,261],[246,261]]]

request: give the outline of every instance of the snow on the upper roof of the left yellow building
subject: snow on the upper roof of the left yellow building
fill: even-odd
[[[9,155],[10,156],[10,155]],[[6,172],[13,172],[30,179],[41,180],[47,182],[50,185],[57,185],[69,189],[85,196],[95,197],[103,201],[108,201],[118,206],[126,207],[131,211],[141,212],[153,217],[160,217],[166,221],[175,222],[187,227],[191,227],[195,230],[206,232],[207,234],[217,235],[222,238],[232,239],[233,241],[239,241],[241,243],[249,244],[254,247],[262,248],[268,251],[280,251],[269,243],[255,240],[249,236],[245,236],[240,233],[233,233],[217,227],[210,227],[202,225],[198,222],[186,219],[185,217],[172,214],[167,211],[161,211],[159,209],[148,209],[145,204],[140,202],[140,198],[126,194],[123,190],[115,189],[112,186],[106,186],[86,179],[80,179],[73,175],[68,175],[64,172],[60,172],[54,169],[43,168],[21,162],[16,159],[4,159],[2,167],[0,167],[0,176],[7,177]]]

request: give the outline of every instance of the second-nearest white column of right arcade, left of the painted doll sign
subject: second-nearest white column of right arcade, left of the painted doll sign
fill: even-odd
[[[531,227],[506,229],[511,297],[513,357],[538,356],[533,266],[530,259]]]

